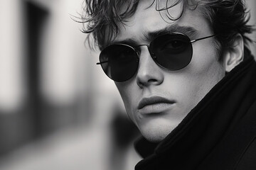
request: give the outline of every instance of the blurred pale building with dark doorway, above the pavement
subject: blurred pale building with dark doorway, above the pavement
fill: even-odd
[[[90,57],[68,2],[1,1],[0,154],[90,114],[78,74]]]

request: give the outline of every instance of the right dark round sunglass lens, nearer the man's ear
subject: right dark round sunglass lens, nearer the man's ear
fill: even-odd
[[[192,45],[182,34],[161,35],[150,44],[150,51],[161,67],[178,70],[186,67],[192,58]]]

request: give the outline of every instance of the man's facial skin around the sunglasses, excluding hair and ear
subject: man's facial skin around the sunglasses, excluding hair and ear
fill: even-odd
[[[191,40],[213,35],[208,22],[198,10],[186,10],[178,21],[166,18],[151,6],[151,1],[141,1],[136,13],[114,41],[132,40],[137,44],[149,44],[149,33],[175,26],[176,32],[184,32]],[[171,16],[181,13],[181,4],[169,9]],[[161,17],[162,16],[162,17]],[[186,32],[186,28],[193,28]],[[128,40],[128,41],[129,41]],[[142,135],[152,142],[166,137],[199,101],[225,75],[223,64],[218,62],[213,38],[193,42],[193,57],[187,67],[169,71],[152,60],[146,46],[141,47],[137,74],[124,82],[116,82],[129,118],[137,125]],[[144,104],[142,104],[144,103]]]

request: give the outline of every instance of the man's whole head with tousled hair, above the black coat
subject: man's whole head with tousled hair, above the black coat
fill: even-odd
[[[242,61],[243,43],[247,41],[245,33],[251,31],[246,25],[242,1],[120,0],[87,1],[87,4],[90,19],[87,18],[89,25],[86,32],[92,32],[101,50],[117,43],[134,48],[134,54],[130,55],[129,47],[129,55],[122,57],[137,55],[138,64],[131,65],[136,72],[129,79],[116,81],[115,84],[129,118],[142,135],[153,142],[163,140],[174,130],[210,89],[223,79],[225,72]],[[186,36],[180,36],[180,33]],[[159,38],[159,35],[166,37],[166,34],[171,34],[171,43],[169,39]],[[206,38],[210,35],[215,36]],[[205,39],[188,43],[188,38]],[[179,40],[184,42],[186,48],[174,50],[182,46],[177,46]],[[166,51],[170,45],[171,52]],[[184,67],[174,70],[156,59],[159,54],[166,61],[169,61],[168,57],[179,56],[177,54],[188,56],[188,45],[191,45],[192,58]],[[127,50],[127,47],[124,49]],[[112,48],[114,52],[118,50],[116,46]],[[166,57],[168,52],[171,55]],[[153,53],[156,53],[156,58]],[[176,63],[176,60],[171,61]],[[118,68],[124,72],[121,69],[128,70],[129,67]],[[118,73],[118,70],[114,72]]]

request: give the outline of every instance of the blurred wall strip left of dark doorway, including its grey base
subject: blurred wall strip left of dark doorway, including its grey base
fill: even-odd
[[[0,154],[31,135],[28,120],[19,114],[27,97],[22,4],[19,0],[0,1]]]

